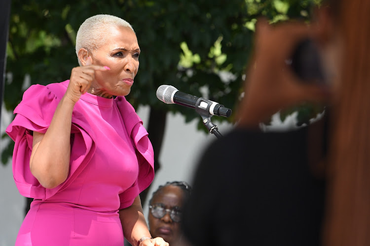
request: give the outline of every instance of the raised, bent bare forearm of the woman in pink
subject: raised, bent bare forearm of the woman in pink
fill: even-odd
[[[46,188],[54,188],[67,179],[74,104],[71,99],[63,96],[46,133],[34,132],[30,169]]]

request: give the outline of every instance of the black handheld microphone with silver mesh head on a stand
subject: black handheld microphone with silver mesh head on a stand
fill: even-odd
[[[164,103],[176,103],[185,107],[194,108],[200,114],[229,117],[232,112],[231,109],[225,108],[218,102],[179,92],[175,87],[169,85],[161,85],[158,87],[156,94],[157,98]]]

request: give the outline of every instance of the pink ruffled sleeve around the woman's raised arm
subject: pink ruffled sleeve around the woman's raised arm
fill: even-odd
[[[15,142],[12,159],[13,177],[23,196],[43,200],[51,197],[73,182],[95,152],[94,135],[88,132],[89,127],[83,122],[82,116],[74,112],[71,126],[70,172],[67,180],[53,189],[47,189],[38,183],[30,171],[33,131],[46,132],[65,89],[61,83],[46,87],[31,86],[14,110],[15,119],[5,130]]]

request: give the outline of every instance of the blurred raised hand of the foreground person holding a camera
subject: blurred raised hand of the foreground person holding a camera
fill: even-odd
[[[329,98],[328,86],[300,81],[285,63],[298,41],[311,36],[313,31],[304,23],[272,26],[264,19],[258,21],[254,57],[246,71],[245,95],[237,115],[239,126],[255,127],[282,108]]]

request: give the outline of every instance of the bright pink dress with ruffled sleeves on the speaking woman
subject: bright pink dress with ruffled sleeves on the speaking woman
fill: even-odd
[[[15,184],[34,198],[15,245],[123,246],[118,210],[129,207],[154,178],[148,132],[124,97],[85,93],[75,104],[64,183],[47,189],[30,172],[32,131],[46,132],[68,83],[31,86],[6,128],[15,142]]]

